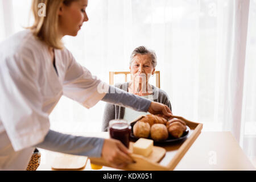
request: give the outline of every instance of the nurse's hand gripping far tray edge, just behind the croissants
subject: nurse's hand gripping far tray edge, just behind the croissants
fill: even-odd
[[[157,114],[162,116],[163,118],[171,118],[172,111],[167,105],[161,104],[159,102],[151,102],[150,107],[148,108],[148,112],[151,114]]]

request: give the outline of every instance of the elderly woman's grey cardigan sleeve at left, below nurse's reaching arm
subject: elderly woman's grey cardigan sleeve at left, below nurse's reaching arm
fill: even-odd
[[[108,131],[109,121],[112,119],[115,119],[115,105],[106,103],[102,119],[101,131]]]

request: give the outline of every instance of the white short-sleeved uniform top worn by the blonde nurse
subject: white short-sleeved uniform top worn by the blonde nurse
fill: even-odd
[[[30,30],[0,44],[0,170],[26,169],[61,96],[87,108],[105,96],[97,92],[101,81],[67,49],[55,50],[55,63],[58,75],[46,44]]]

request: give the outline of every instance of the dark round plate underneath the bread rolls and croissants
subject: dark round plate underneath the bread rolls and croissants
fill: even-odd
[[[137,122],[137,121],[136,121],[136,122]],[[131,140],[134,141],[134,142],[139,139],[138,137],[135,137],[134,134],[133,134],[133,126],[135,125],[136,122],[131,123],[131,135],[130,135],[130,138],[131,138]],[[191,131],[190,131],[189,127],[187,126],[187,130],[183,133],[183,135],[182,135],[180,138],[174,138],[174,137],[171,137],[171,136],[169,135],[169,138],[166,139],[166,140],[162,140],[162,141],[155,141],[155,140],[154,140],[154,144],[165,144],[165,143],[174,143],[174,142],[178,142],[178,141],[181,141],[181,140],[187,138],[188,135],[190,134],[190,132],[191,132]],[[149,137],[148,139],[151,139],[151,138]]]

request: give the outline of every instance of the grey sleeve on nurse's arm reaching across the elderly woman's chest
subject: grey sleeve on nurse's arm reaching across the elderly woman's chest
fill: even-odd
[[[151,101],[146,98],[125,92],[114,86],[109,86],[109,92],[102,98],[102,101],[143,112],[147,112],[151,104]]]

